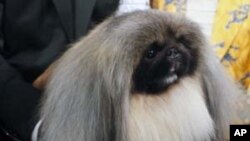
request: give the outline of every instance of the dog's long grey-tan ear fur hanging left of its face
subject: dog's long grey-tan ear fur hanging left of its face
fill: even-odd
[[[41,140],[123,140],[131,76],[117,55],[103,56],[111,50],[89,41],[69,49],[52,72],[42,101]]]

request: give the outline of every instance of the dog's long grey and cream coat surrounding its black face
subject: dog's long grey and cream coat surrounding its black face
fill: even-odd
[[[172,24],[183,22],[164,12],[134,12],[109,18],[73,45],[57,61],[46,88],[40,139],[224,140],[237,89],[205,41],[195,75],[157,97],[131,95],[131,77],[143,52],[133,47],[155,40],[165,30],[160,24],[165,17]],[[141,29],[140,23],[153,23],[157,30]]]

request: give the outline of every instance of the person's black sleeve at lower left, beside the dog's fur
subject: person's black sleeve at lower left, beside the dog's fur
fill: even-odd
[[[0,1],[0,15],[3,4]],[[2,16],[1,16],[2,17]],[[2,19],[0,17],[0,19]],[[0,21],[2,23],[2,20]],[[2,24],[1,24],[2,25]],[[2,26],[1,26],[2,29]],[[3,57],[4,36],[0,33],[0,128],[23,141],[31,139],[37,122],[41,92],[25,82]]]

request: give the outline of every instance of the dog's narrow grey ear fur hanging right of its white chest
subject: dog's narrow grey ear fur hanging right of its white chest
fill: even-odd
[[[214,120],[217,140],[229,137],[229,125],[236,116],[235,101],[241,91],[225,71],[212,47],[205,47],[202,53],[201,75],[207,105]]]

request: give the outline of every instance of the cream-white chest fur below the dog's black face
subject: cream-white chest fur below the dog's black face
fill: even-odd
[[[214,136],[197,77],[183,78],[161,95],[135,94],[130,102],[130,141],[210,141]]]

